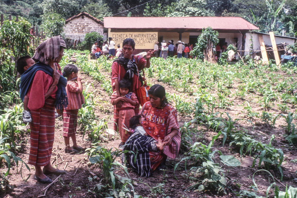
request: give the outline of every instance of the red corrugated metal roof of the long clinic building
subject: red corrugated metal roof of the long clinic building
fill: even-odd
[[[241,17],[105,17],[105,28],[258,30]]]

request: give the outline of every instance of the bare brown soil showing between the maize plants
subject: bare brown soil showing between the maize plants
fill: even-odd
[[[108,72],[104,72],[105,75],[109,75]],[[93,92],[97,106],[96,109],[94,109],[95,114],[97,116],[97,119],[105,118],[106,120],[112,121],[113,119],[113,107],[110,104],[110,96],[103,90],[102,87],[100,87],[100,84],[96,81],[94,81],[91,77],[81,74],[83,81],[85,83],[93,83],[94,87],[90,86],[89,92]],[[156,79],[152,78],[149,79],[149,84],[155,84],[159,83],[162,84],[166,91],[169,94],[183,94],[178,93],[176,90],[174,90],[171,86],[164,84],[162,82],[157,82]],[[84,86],[85,88],[85,86]],[[234,92],[237,89],[236,84],[233,86],[233,90],[231,92]],[[230,95],[232,98],[232,95]],[[250,105],[253,107],[253,110],[261,112],[262,109],[256,105],[257,99],[252,98],[251,95],[251,101]],[[190,99],[193,98],[193,96],[189,96]],[[230,116],[232,118],[243,118],[244,115],[242,112],[244,112],[242,103],[244,101],[235,99],[235,97],[232,98],[233,105],[229,106],[229,109],[226,109]],[[253,102],[254,101],[254,102]],[[295,106],[290,106],[291,110],[294,110]],[[222,111],[219,109],[216,109],[217,111]],[[274,110],[271,110],[273,112]],[[275,110],[275,112],[278,112]],[[279,113],[279,112],[278,112]],[[185,121],[189,121],[191,118],[189,116],[178,117],[179,124],[182,126]],[[260,120],[259,120],[260,123]],[[250,125],[248,125],[245,121],[238,121],[238,124],[241,126],[252,128]],[[254,128],[254,130],[247,129],[246,132],[250,135],[253,135],[255,139],[261,140],[264,143],[268,143],[270,140],[271,135],[275,135],[276,140],[273,142],[273,146],[275,148],[281,148],[284,151],[285,158],[284,162],[282,164],[283,172],[284,172],[284,178],[283,181],[280,183],[277,182],[277,185],[281,188],[281,190],[285,190],[285,187],[283,185],[293,186],[296,187],[296,183],[294,183],[293,179],[297,178],[296,170],[297,170],[297,164],[296,162],[293,162],[291,160],[297,159],[297,153],[296,148],[292,145],[289,145],[285,139],[283,138],[283,133],[285,131],[282,129],[282,125],[284,125],[285,122],[283,119],[280,119],[276,123],[276,127],[271,127],[268,124],[259,124]],[[108,123],[108,127],[112,128],[112,123]],[[99,169],[98,166],[91,165],[88,157],[86,154],[65,154],[64,153],[64,138],[62,136],[62,119],[61,117],[56,119],[56,131],[55,131],[55,142],[53,146],[53,155],[52,155],[52,164],[54,167],[59,169],[64,169],[67,171],[66,175],[61,175],[61,177],[58,179],[56,183],[54,183],[46,192],[45,197],[95,197],[92,189],[94,187],[94,183],[89,180],[89,177],[93,177],[97,175],[99,178],[102,178],[102,170]],[[260,132],[262,133],[260,133]],[[208,144],[213,135],[215,135],[215,132],[212,131],[206,131],[205,128],[201,127],[200,132],[193,137],[193,141],[201,141],[204,144]],[[266,134],[266,135],[263,135]],[[88,140],[87,135],[85,135],[84,139],[82,139],[82,132],[78,132],[77,134],[77,141],[78,145],[83,146],[85,148],[91,147],[91,141]],[[23,150],[18,154],[18,156],[23,159],[25,162],[28,161],[29,157],[29,149],[30,149],[30,138],[29,134],[24,137],[24,140],[27,140],[26,144],[23,144]],[[114,137],[110,138],[108,142],[103,143],[103,145],[107,148],[113,148],[118,147],[120,143],[119,135],[115,135]],[[139,195],[142,195],[143,197],[236,197],[236,193],[240,189],[241,190],[250,190],[251,186],[253,185],[252,182],[252,175],[255,173],[256,170],[259,170],[258,167],[252,168],[252,161],[253,157],[249,155],[240,156],[238,153],[238,149],[235,147],[230,147],[227,144],[224,146],[221,145],[222,141],[218,140],[214,144],[214,148],[220,150],[224,155],[233,155],[237,159],[241,161],[241,166],[239,167],[224,167],[225,170],[227,170],[226,175],[228,175],[228,186],[229,189],[227,189],[227,194],[223,195],[217,195],[213,191],[206,191],[206,192],[193,192],[193,191],[184,191],[187,189],[187,187],[192,185],[192,182],[189,180],[189,178],[186,178],[183,175],[185,173],[184,171],[184,163],[181,163],[179,167],[177,168],[175,175],[173,174],[173,169],[176,163],[180,161],[182,157],[184,157],[183,154],[180,154],[176,159],[168,159],[166,166],[162,170],[157,170],[154,172],[153,177],[150,178],[142,178],[136,175],[129,169],[129,174],[131,179],[134,181],[134,188],[135,192],[137,192]],[[120,158],[117,159],[119,162],[121,161]],[[219,155],[216,155],[214,161],[219,162]],[[66,166],[67,163],[67,166]],[[11,185],[15,185],[15,189],[10,190],[8,192],[5,192],[5,194],[0,194],[0,197],[38,197],[44,193],[42,190],[47,186],[47,184],[41,184],[34,180],[34,167],[31,167],[31,173],[22,167],[22,174],[24,177],[31,174],[31,177],[27,182],[24,182],[20,176],[20,165],[17,168],[15,165],[13,165],[12,169],[10,170],[10,174],[8,175],[8,178],[10,180]],[[6,169],[1,168],[2,172],[4,172]],[[189,169],[188,169],[189,170]],[[75,173],[76,172],[76,173]],[[272,169],[270,171],[272,175],[274,175],[276,178],[280,178],[280,174],[277,169]],[[121,173],[119,173],[121,174]],[[50,178],[54,180],[57,178],[56,175],[50,175]],[[257,172],[255,176],[255,181],[259,187],[259,194],[262,196],[265,196],[266,189],[272,182],[271,178],[268,178],[268,175],[264,172]],[[162,184],[161,188],[153,188],[158,185]],[[158,189],[161,189],[158,191]]]

